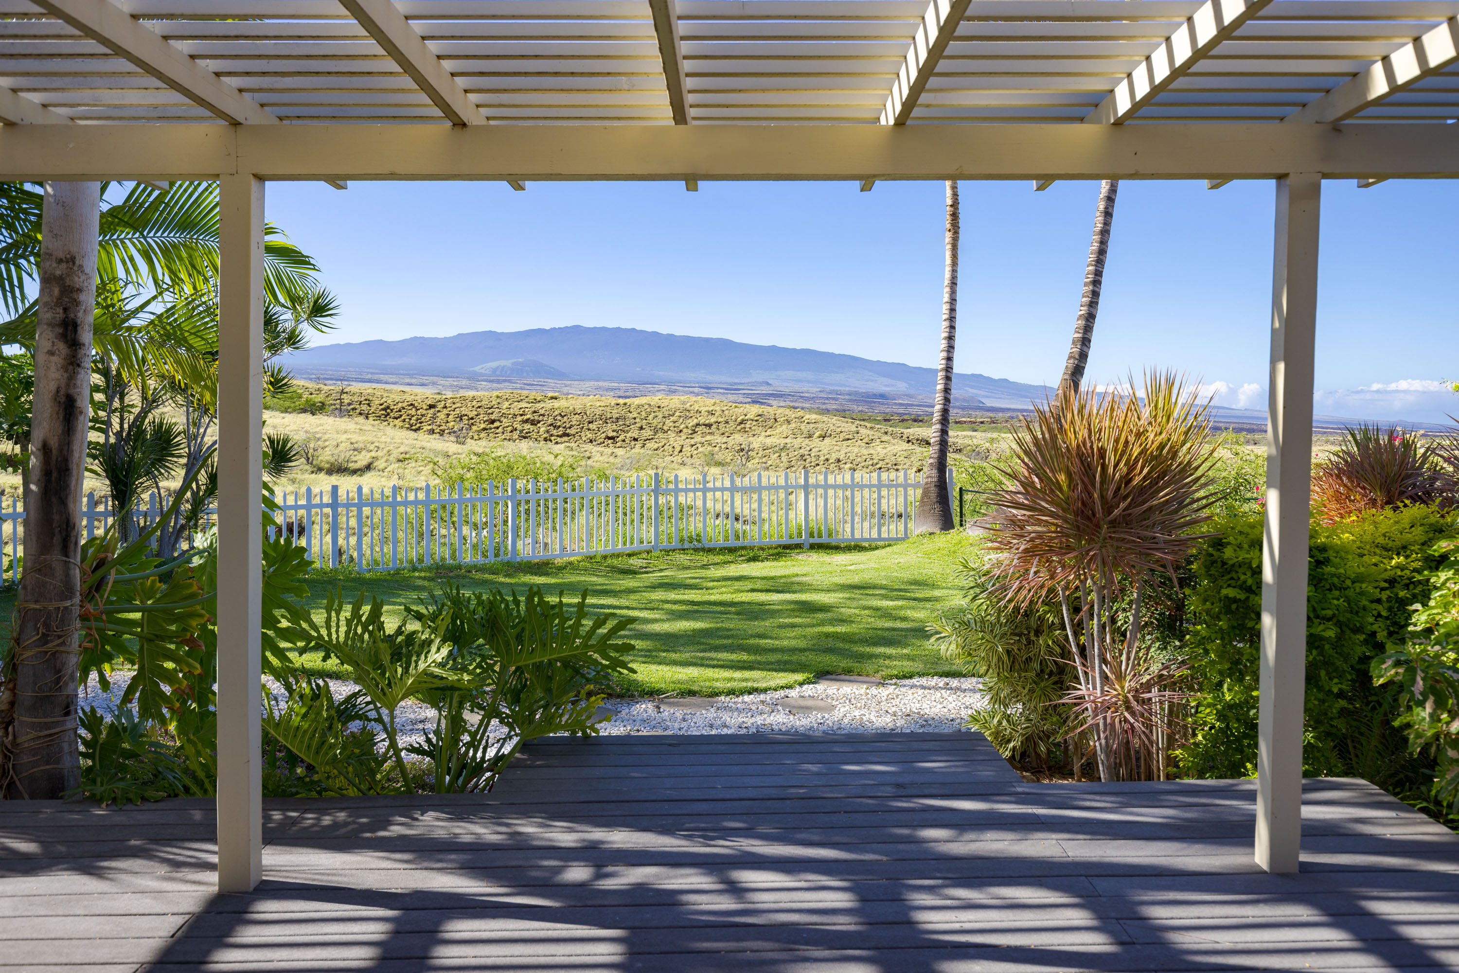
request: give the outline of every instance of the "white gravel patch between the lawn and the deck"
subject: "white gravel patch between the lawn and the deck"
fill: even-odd
[[[824,713],[797,713],[782,699],[818,699]],[[950,732],[961,729],[982,693],[975,678],[919,677],[881,684],[811,683],[770,693],[719,696],[702,710],[654,699],[610,700],[604,734]]]

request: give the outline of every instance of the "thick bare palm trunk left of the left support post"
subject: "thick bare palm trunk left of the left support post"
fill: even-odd
[[[6,792],[58,798],[80,783],[80,492],[90,416],[101,184],[47,182],[35,325],[25,573],[6,687]],[[3,716],[4,713],[0,713]]]

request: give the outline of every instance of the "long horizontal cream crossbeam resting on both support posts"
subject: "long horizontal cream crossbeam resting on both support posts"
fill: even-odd
[[[1459,178],[1459,125],[4,125],[0,179]]]

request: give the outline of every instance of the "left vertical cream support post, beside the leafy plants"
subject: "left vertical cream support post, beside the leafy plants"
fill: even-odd
[[[225,175],[217,337],[217,890],[263,878],[264,184]]]

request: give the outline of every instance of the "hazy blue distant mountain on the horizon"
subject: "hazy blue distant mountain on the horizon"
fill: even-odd
[[[582,325],[324,344],[292,354],[286,366],[301,375],[320,369],[369,369],[376,373],[486,373],[645,385],[855,389],[899,397],[932,395],[937,388],[937,369],[931,368],[813,349]],[[1030,400],[1042,400],[1049,389],[959,372],[953,391],[988,406],[1020,408]]]

